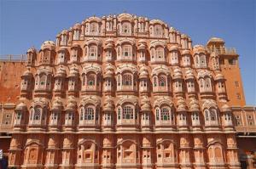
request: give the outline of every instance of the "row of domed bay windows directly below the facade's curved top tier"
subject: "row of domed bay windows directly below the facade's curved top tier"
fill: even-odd
[[[150,61],[153,64],[168,63],[170,65],[182,65],[183,67],[195,65],[195,68],[211,67],[213,70],[219,69],[218,56],[214,54],[208,56],[204,48],[199,47],[201,48],[199,52],[196,52],[196,49],[192,57],[189,50],[181,53],[175,46],[170,49],[166,48],[166,42],[164,41],[152,41],[150,42],[149,49],[147,49],[146,41],[139,41],[138,47],[136,47],[132,39],[119,39],[114,48],[113,39],[108,39],[106,40],[106,47],[102,48],[101,40],[89,39],[85,42],[83,48],[84,50],[80,48],[79,44],[74,44],[70,50],[61,47],[57,54],[55,54],[49,47],[44,47],[44,49],[40,50],[38,64],[63,65],[67,64],[67,62],[102,62],[102,59],[105,59],[106,61],[118,60],[128,62]],[[102,57],[103,55],[106,57]],[[27,63],[33,65],[35,64],[35,59],[35,50],[29,50],[27,52]]]

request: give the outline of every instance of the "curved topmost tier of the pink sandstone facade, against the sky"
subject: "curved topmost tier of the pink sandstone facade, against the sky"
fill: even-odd
[[[96,16],[73,25],[69,30],[63,30],[57,35],[57,45],[66,45],[72,40],[83,40],[84,37],[152,37],[169,38],[176,42],[175,34],[181,34],[161,20],[148,20],[131,14]],[[188,37],[189,38],[189,37]]]

